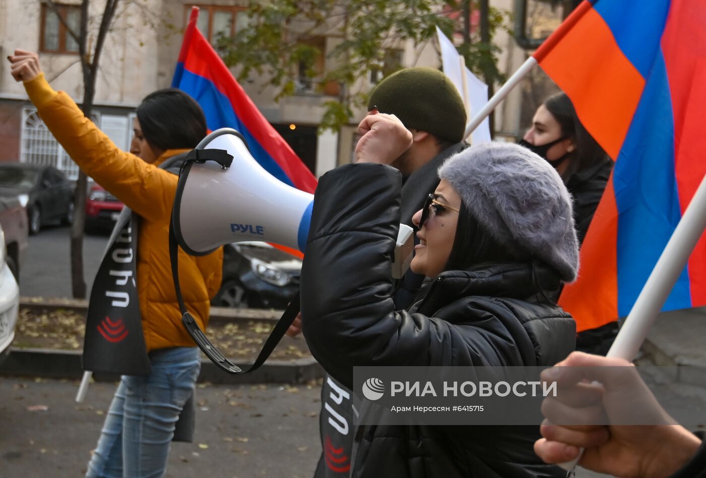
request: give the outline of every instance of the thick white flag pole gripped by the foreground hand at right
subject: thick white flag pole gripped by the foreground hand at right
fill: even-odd
[[[706,176],[659,256],[608,357],[632,362],[706,228]]]

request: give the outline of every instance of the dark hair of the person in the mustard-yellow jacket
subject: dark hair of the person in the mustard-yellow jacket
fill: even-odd
[[[148,94],[137,107],[137,120],[152,149],[193,149],[206,135],[201,106],[176,88]]]

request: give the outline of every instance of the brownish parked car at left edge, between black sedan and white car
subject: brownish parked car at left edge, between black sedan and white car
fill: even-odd
[[[19,282],[20,267],[28,245],[29,228],[27,209],[20,203],[20,198],[0,196],[0,226],[4,231],[5,262]]]

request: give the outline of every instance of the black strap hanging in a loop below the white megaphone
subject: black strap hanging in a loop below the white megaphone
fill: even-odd
[[[292,302],[289,302],[287,310],[285,310],[280,320],[277,321],[275,328],[270,332],[270,336],[265,341],[265,345],[263,345],[255,362],[249,367],[241,367],[228,360],[225,355],[208,340],[208,337],[206,337],[205,333],[199,328],[196,320],[194,320],[191,314],[186,310],[184,298],[181,296],[181,287],[179,286],[179,244],[177,243],[177,236],[174,234],[173,219],[169,221],[169,260],[172,262],[172,278],[174,278],[174,288],[177,290],[177,301],[179,302],[179,310],[181,310],[181,322],[184,324],[184,327],[186,327],[186,331],[189,332],[194,343],[205,353],[206,357],[229,374],[247,374],[254,372],[265,363],[265,360],[270,357],[270,354],[275,350],[277,344],[280,343],[282,337],[285,336],[294,318],[299,314],[299,290],[294,294],[294,298],[292,298]]]

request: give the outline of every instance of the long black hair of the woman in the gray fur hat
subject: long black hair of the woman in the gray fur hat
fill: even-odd
[[[547,281],[543,281],[541,277],[546,274],[546,271],[552,271],[553,274],[556,274],[556,286],[558,286],[558,273],[554,269],[551,269],[537,257],[532,257],[519,245],[503,244],[493,238],[491,233],[469,212],[463,201],[461,201],[459,209],[456,235],[444,271],[465,271],[494,264],[524,262],[532,267],[532,284],[537,290],[537,300],[547,303],[555,302],[553,298],[549,297],[553,292],[551,290],[553,287],[549,286],[549,290],[545,290]],[[551,281],[549,282],[551,283]]]

